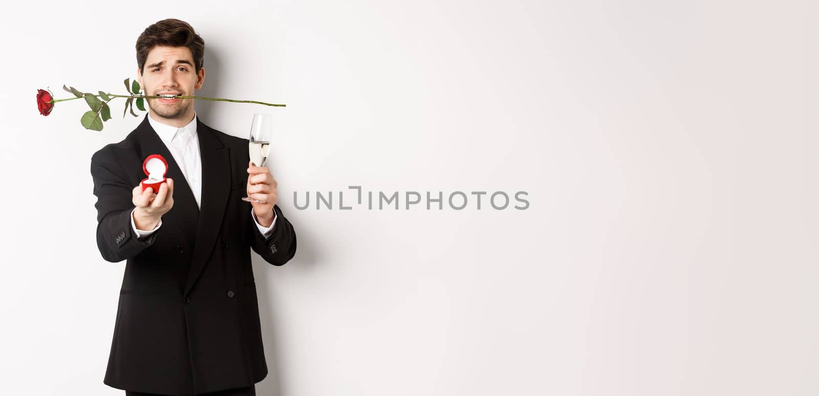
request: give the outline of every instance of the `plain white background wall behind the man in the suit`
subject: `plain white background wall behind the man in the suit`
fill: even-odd
[[[89,165],[144,115],[94,132],[34,96],[124,91],[168,17],[205,39],[198,93],[287,104],[196,105],[276,119],[298,252],[254,254],[259,394],[819,394],[815,2],[125,5],[0,16],[2,394],[123,394]],[[293,206],[351,185],[531,205]]]

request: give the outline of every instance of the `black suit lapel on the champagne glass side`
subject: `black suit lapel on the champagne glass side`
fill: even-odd
[[[196,284],[213,251],[224,218],[230,193],[230,153],[216,133],[197,117],[197,135],[201,153],[201,210],[193,249],[188,285],[184,295]]]

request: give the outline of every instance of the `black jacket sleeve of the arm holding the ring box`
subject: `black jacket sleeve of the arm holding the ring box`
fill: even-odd
[[[130,259],[145,250],[161,233],[138,239],[131,227],[133,187],[115,156],[102,149],[91,157],[93,193],[97,196],[97,248],[102,259],[111,263]]]

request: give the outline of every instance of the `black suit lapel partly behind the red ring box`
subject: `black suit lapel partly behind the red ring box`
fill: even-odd
[[[178,223],[182,227],[185,245],[187,245],[188,249],[192,249],[192,241],[195,241],[197,236],[199,208],[196,199],[193,197],[191,187],[185,180],[179,164],[174,160],[174,155],[170,154],[168,146],[165,146],[165,142],[162,142],[162,139],[152,128],[151,123],[148,122],[148,115],[145,115],[142,124],[137,127],[137,136],[141,160],[144,161],[148,155],[159,154],[168,161],[168,173],[165,174],[165,178],[174,179],[174,207],[170,209],[167,215],[172,217],[173,221],[171,223]]]

